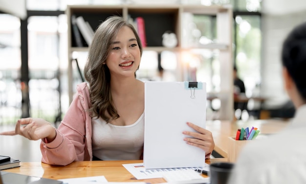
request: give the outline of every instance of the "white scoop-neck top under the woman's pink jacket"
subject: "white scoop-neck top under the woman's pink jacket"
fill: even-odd
[[[144,142],[144,113],[127,126],[107,123],[100,118],[91,118],[92,153],[104,160],[139,160]]]

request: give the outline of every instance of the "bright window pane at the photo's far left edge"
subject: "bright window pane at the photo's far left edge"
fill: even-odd
[[[0,23],[0,124],[8,124],[21,117],[20,19],[0,14]]]

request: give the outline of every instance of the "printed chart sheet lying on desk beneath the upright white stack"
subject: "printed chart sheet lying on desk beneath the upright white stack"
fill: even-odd
[[[122,164],[137,180],[162,178],[163,173],[173,170],[195,170],[201,169],[209,171],[209,165],[205,163],[204,167],[185,167],[185,168],[168,168],[168,169],[145,169],[143,163]]]

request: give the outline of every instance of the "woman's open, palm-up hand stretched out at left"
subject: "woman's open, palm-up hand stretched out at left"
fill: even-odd
[[[56,137],[55,128],[42,118],[22,118],[15,126],[15,131],[1,132],[0,135],[15,136],[21,135],[30,140],[46,138],[51,142]]]

